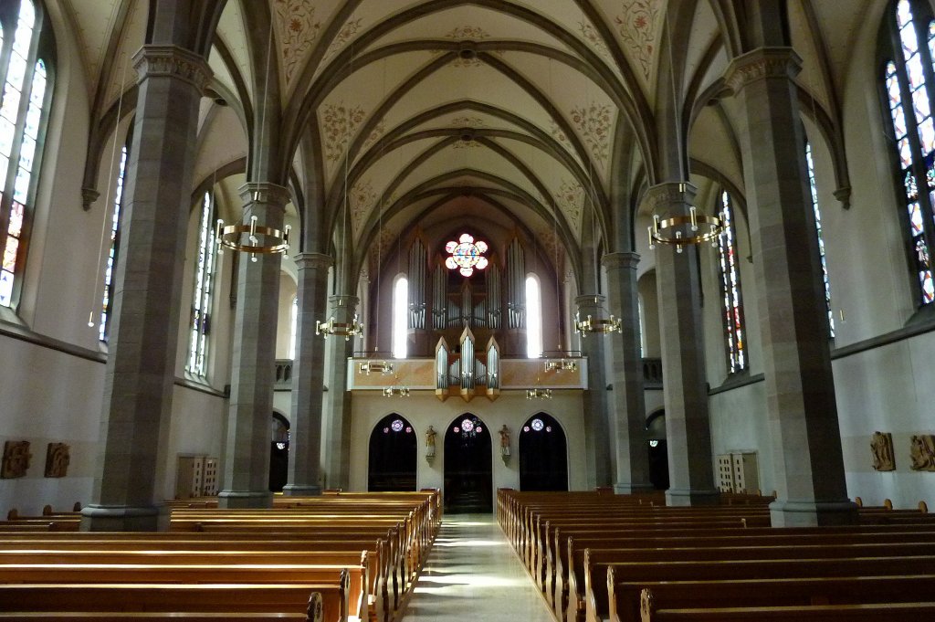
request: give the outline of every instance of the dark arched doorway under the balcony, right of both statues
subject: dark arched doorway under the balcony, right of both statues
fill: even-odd
[[[539,412],[520,430],[520,490],[568,490],[568,441],[553,417]]]

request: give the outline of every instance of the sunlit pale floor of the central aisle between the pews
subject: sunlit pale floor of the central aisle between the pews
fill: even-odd
[[[554,622],[490,514],[444,518],[402,619]]]

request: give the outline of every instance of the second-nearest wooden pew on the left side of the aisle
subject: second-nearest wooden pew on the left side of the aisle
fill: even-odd
[[[36,612],[202,612],[222,614],[224,619],[306,613],[312,622],[347,622],[347,586],[347,574],[324,584],[12,584],[0,585],[0,612],[13,619]]]

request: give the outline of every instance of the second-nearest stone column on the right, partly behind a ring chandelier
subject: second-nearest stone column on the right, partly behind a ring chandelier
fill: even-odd
[[[695,192],[690,183],[660,183],[646,191],[643,202],[650,212],[665,219],[688,213]],[[669,445],[666,502],[717,503],[720,493],[714,487],[698,249],[688,246],[677,253],[673,245],[657,244],[655,265]]]

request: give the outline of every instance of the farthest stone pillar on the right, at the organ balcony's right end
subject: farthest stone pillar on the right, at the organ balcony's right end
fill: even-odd
[[[591,315],[606,318],[605,297],[587,294],[575,298],[581,319]],[[605,340],[612,339],[600,333],[581,338],[582,354],[587,356],[587,390],[584,392],[584,454],[587,466],[587,485],[608,486],[613,482],[611,467],[611,434],[607,425],[607,373],[604,369]]]

